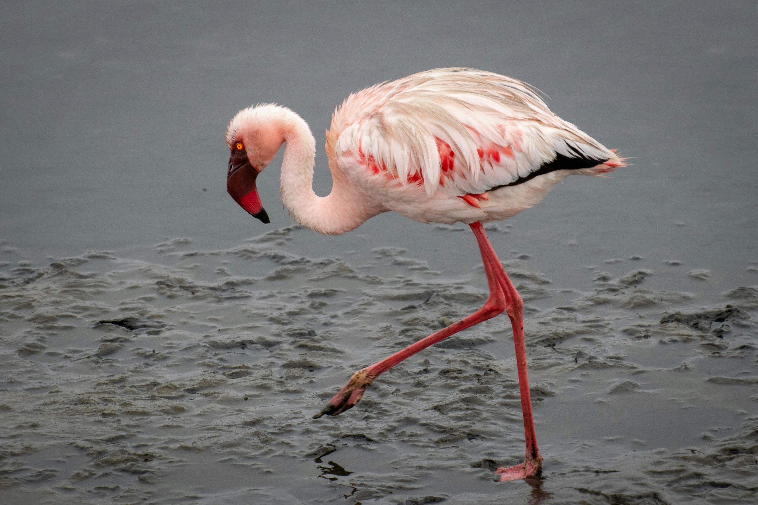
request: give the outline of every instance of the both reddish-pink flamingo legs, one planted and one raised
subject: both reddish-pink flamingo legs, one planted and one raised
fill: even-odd
[[[500,468],[496,473],[501,475],[501,481],[514,480],[517,478],[533,477],[540,472],[542,466],[542,456],[537,448],[537,438],[534,434],[534,419],[531,412],[531,397],[529,394],[529,381],[526,370],[526,349],[524,344],[524,321],[523,306],[521,296],[518,295],[515,287],[508,278],[503,264],[497,258],[495,250],[487,234],[484,233],[484,227],[481,223],[471,224],[471,230],[474,231],[479,245],[482,261],[484,263],[484,272],[487,274],[487,284],[490,287],[490,296],[487,302],[478,311],[462,318],[460,321],[449,325],[446,328],[437,331],[428,337],[412,343],[405,349],[399,350],[392,356],[389,356],[374,365],[361,369],[352,375],[345,387],[339,393],[329,400],[327,406],[318,412],[314,419],[321,416],[337,416],[347,409],[355,406],[363,397],[366,388],[369,387],[374,379],[377,378],[394,365],[408,359],[415,353],[426,349],[427,347],[439,342],[440,340],[456,334],[459,331],[471,328],[480,322],[491,319],[496,315],[506,311],[511,320],[513,328],[513,340],[516,348],[516,366],[518,369],[518,384],[521,390],[522,411],[524,413],[524,430],[526,438],[526,457],[524,463],[512,466],[510,468]]]

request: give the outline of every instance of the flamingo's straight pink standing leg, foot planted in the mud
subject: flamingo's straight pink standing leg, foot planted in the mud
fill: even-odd
[[[529,393],[529,378],[526,369],[526,347],[524,344],[524,302],[513,283],[508,278],[503,264],[497,258],[492,244],[487,240],[481,223],[471,224],[471,230],[477,236],[482,249],[484,262],[490,262],[490,268],[503,287],[506,296],[506,313],[513,328],[513,343],[516,350],[516,369],[518,369],[518,387],[521,390],[522,412],[524,415],[524,434],[526,439],[526,456],[524,463],[516,466],[502,467],[495,472],[500,474],[500,481],[511,481],[517,478],[534,477],[542,468],[542,456],[537,447],[537,434],[534,432],[534,416],[531,412],[531,394]]]

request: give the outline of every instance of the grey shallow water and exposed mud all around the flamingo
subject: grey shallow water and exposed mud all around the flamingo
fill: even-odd
[[[545,5],[5,5],[0,500],[755,500],[758,9]],[[506,318],[311,419],[481,305],[468,230],[291,227],[278,159],[270,227],[224,191],[238,108],[318,132],[349,92],[450,65],[533,83],[634,157],[488,227],[527,304],[542,481],[490,472],[523,456]]]

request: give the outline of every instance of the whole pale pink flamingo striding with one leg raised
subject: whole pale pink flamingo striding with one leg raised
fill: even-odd
[[[541,473],[529,395],[521,296],[483,223],[510,218],[540,202],[571,174],[603,177],[625,166],[615,150],[553,114],[527,83],[471,68],[437,68],[352,93],[332,115],[326,151],[333,185],[312,189],[315,139],[289,108],[244,108],[226,134],[230,196],[268,223],[255,178],[282,144],[280,194],[290,215],[321,234],[343,234],[382,212],[422,223],[471,227],[490,295],[481,309],[392,356],[361,369],[314,417],[355,406],[382,373],[459,331],[506,312],[515,343],[524,418],[523,463],[496,469],[503,481]]]

